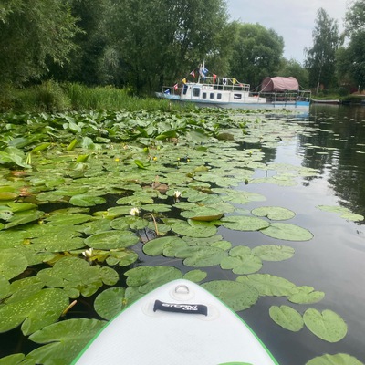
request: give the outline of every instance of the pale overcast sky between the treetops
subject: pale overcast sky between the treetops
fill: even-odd
[[[342,30],[348,0],[226,0],[231,20],[259,23],[284,38],[284,57],[303,62],[305,47],[312,47],[317,11],[323,7]]]

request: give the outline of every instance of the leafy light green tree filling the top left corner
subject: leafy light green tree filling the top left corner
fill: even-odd
[[[47,60],[63,65],[75,45],[76,19],[59,0],[11,0],[0,5],[2,82],[22,84],[47,72]]]

